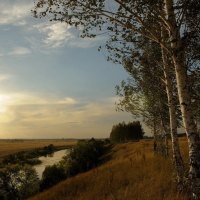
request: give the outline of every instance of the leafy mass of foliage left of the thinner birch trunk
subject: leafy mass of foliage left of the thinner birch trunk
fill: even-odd
[[[123,63],[130,77],[116,86],[116,94],[120,97],[116,102],[117,110],[130,112],[133,116],[142,118],[152,132],[163,128],[167,132],[169,108],[166,85],[163,82],[165,77],[160,67],[160,46],[147,39],[140,39],[140,43],[135,47],[132,49],[133,57],[126,58]],[[175,75],[171,70],[170,77],[175,85]]]

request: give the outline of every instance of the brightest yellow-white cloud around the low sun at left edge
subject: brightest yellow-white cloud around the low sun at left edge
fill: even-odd
[[[61,99],[28,93],[0,95],[0,124],[11,126],[49,126],[66,122],[65,110],[71,112],[78,103],[72,97]],[[10,125],[9,125],[10,124]]]

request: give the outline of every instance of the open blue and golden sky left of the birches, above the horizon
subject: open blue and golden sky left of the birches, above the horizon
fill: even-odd
[[[105,36],[81,39],[35,19],[33,6],[0,0],[0,138],[104,138],[133,121],[115,111],[115,86],[128,75],[98,52]]]

